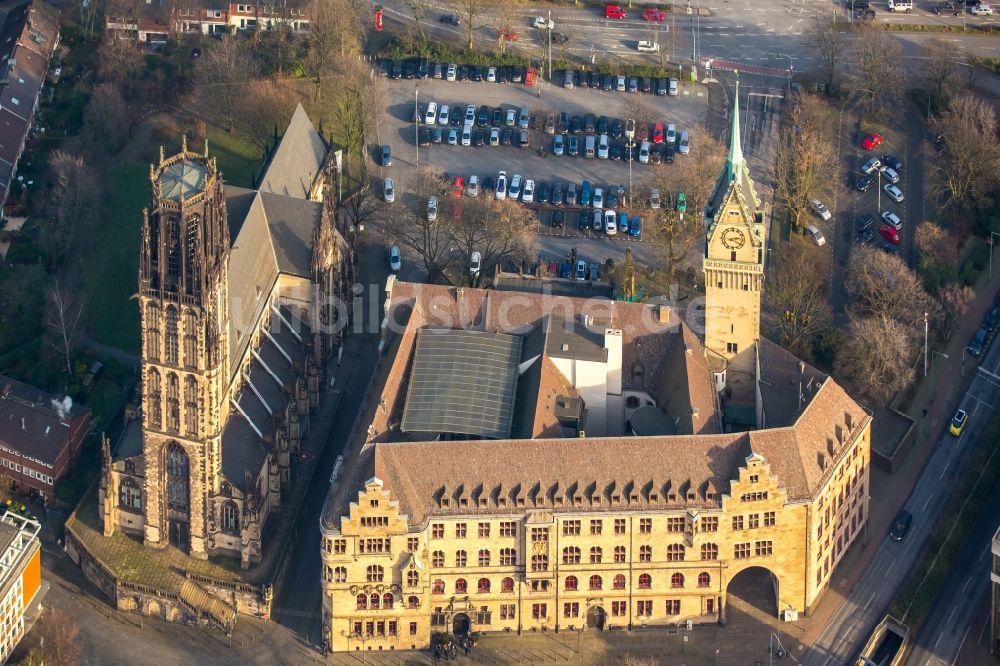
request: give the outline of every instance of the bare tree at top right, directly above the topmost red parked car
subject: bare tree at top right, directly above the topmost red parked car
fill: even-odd
[[[856,28],[857,39],[849,60],[848,84],[876,113],[883,113],[900,99],[906,85],[899,63],[903,47],[890,33],[877,24],[862,24]]]

